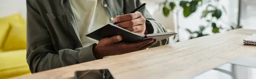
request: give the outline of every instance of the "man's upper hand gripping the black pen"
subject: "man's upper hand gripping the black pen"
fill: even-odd
[[[148,34],[145,25],[146,20],[139,11],[131,14],[116,16],[113,21],[115,23],[118,22],[116,24],[117,26],[125,28],[129,31],[139,34]]]

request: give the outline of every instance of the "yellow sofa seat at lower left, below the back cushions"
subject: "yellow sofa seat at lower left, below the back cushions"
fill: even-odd
[[[0,53],[0,78],[31,74],[26,62],[26,49]]]

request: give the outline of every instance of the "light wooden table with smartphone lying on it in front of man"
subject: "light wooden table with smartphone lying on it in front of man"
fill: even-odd
[[[188,79],[237,56],[256,57],[256,46],[243,44],[254,33],[256,30],[236,29],[18,79],[74,79],[75,71],[105,68],[116,79]]]

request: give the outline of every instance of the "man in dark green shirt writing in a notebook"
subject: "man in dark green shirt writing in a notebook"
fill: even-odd
[[[86,37],[107,23],[140,34],[167,32],[146,8],[127,14],[140,0],[27,0],[27,62],[32,73],[126,54],[169,43],[124,43],[121,36]],[[116,43],[119,42],[119,43]]]

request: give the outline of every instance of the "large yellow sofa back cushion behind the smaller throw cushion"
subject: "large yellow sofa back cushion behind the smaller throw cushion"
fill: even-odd
[[[2,51],[26,49],[26,23],[20,14],[0,18],[1,23],[10,23],[10,31],[6,37]]]

